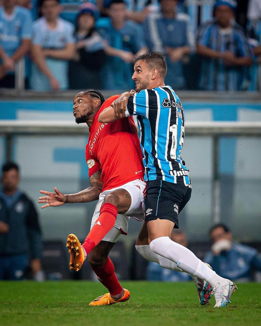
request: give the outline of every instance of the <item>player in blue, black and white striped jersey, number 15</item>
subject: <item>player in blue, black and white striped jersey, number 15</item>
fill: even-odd
[[[138,252],[160,264],[161,257],[163,264],[176,264],[181,271],[191,274],[196,283],[198,279],[204,280],[198,284],[203,298],[210,286],[216,299],[214,307],[225,307],[236,289],[235,283],[217,275],[188,248],[170,239],[173,228],[179,227],[179,213],[190,200],[191,181],[181,158],[184,109],[173,89],[165,85],[166,73],[167,64],[160,52],[138,56],[132,76],[137,93],[123,93],[100,113],[98,120],[110,123],[137,115],[148,181],[145,224],[136,243]]]

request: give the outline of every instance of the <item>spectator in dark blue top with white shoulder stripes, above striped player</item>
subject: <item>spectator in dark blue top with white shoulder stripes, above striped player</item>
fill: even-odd
[[[151,14],[144,22],[144,35],[150,51],[165,53],[167,85],[174,89],[185,87],[182,60],[190,53],[188,17],[176,15],[178,0],[162,0],[161,13]]]

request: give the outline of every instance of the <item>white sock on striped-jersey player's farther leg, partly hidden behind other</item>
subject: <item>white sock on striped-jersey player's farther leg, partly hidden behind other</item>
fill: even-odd
[[[136,245],[135,246],[136,250],[146,260],[153,261],[155,263],[160,264],[161,267],[171,269],[172,271],[178,271],[178,272],[183,272],[180,268],[177,267],[177,264],[171,261],[170,259],[167,259],[165,257],[162,257],[155,252],[151,250],[151,247],[146,244],[146,245]]]

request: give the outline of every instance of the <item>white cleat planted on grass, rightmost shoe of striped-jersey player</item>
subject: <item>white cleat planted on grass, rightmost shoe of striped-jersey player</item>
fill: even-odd
[[[237,289],[234,282],[227,279],[226,281],[227,282],[225,284],[217,283],[212,290],[212,293],[214,293],[214,297],[216,299],[214,308],[225,307],[228,303],[230,303],[231,295]]]

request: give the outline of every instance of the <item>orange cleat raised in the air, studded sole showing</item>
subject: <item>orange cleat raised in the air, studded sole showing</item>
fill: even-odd
[[[84,252],[81,247],[80,241],[77,236],[73,233],[67,237],[66,247],[71,254],[69,267],[72,271],[80,271],[81,266],[84,262]]]

